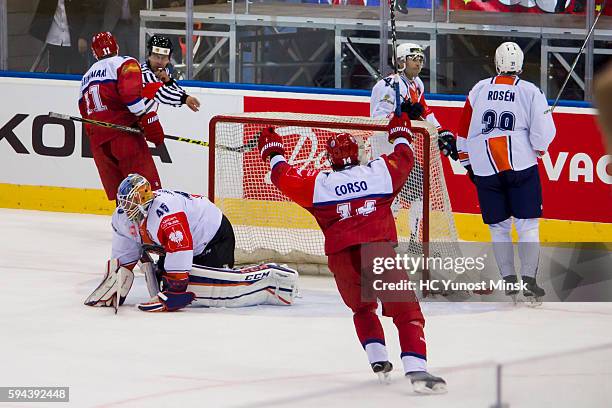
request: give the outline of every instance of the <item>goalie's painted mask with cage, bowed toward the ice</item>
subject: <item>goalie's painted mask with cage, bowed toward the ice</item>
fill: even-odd
[[[125,211],[128,219],[140,223],[146,216],[155,196],[149,181],[140,174],[129,174],[117,192],[117,206]]]

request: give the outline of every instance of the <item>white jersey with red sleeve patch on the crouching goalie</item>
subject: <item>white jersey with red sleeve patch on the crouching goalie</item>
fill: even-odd
[[[140,226],[115,209],[111,256],[121,265],[130,264],[140,259],[142,244],[156,244],[166,250],[166,271],[189,271],[193,257],[204,251],[219,230],[221,210],[203,196],[169,190],[154,194]]]

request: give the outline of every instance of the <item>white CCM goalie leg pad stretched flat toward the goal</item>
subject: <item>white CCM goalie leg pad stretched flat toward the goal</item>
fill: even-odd
[[[297,279],[296,270],[275,263],[237,270],[198,266],[190,272],[189,290],[209,307],[287,306],[297,294]]]

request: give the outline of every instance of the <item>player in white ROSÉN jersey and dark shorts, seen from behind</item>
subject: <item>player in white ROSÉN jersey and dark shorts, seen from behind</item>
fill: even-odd
[[[502,277],[516,283],[512,221],[519,237],[523,294],[544,296],[537,285],[542,189],[537,159],[555,137],[555,124],[542,91],[519,78],[523,51],[513,42],[495,51],[497,76],[478,82],[463,108],[457,133],[461,164],[478,191]],[[517,291],[507,291],[516,296]]]

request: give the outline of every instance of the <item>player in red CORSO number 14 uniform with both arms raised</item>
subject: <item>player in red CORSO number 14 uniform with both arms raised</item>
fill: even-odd
[[[393,153],[367,165],[359,165],[353,136],[332,136],[326,144],[331,172],[302,171],[289,165],[282,139],[273,128],[263,130],[258,141],[262,159],[270,159],[274,185],[308,210],[321,227],[328,266],[344,303],[353,311],[359,341],[373,371],[384,376],[393,366],[376,314],[376,298],[362,298],[362,271],[372,270],[372,258],[365,255],[371,243],[381,244],[384,256],[395,256],[397,231],[391,203],[414,165],[410,126],[406,114],[394,117],[389,123]],[[399,332],[404,372],[417,392],[445,392],[445,381],[426,370],[425,320],[414,293],[409,295],[403,301],[380,298],[383,315],[393,318]]]

